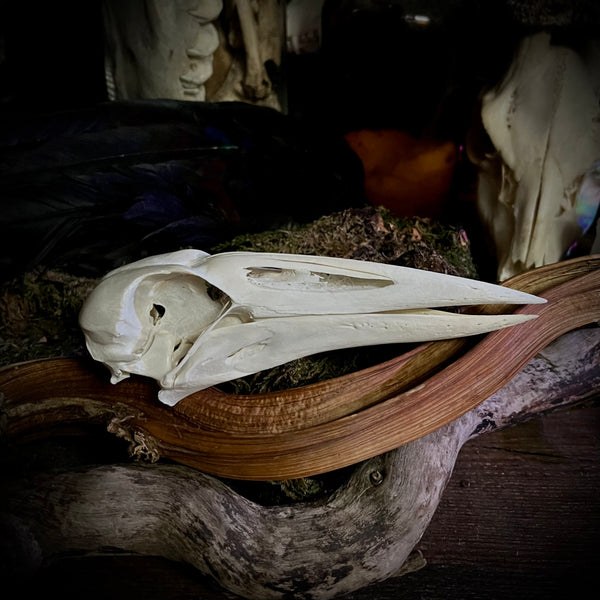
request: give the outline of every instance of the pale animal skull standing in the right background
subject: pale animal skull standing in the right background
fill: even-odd
[[[600,158],[599,101],[600,43],[577,53],[546,33],[523,40],[504,81],[483,97],[494,148],[469,152],[499,281],[561,260],[581,236],[578,190]]]

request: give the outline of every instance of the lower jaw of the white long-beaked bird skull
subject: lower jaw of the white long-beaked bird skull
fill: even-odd
[[[274,317],[211,329],[161,380],[166,404],[212,385],[341,348],[414,343],[488,333],[536,315],[462,315],[436,310]]]

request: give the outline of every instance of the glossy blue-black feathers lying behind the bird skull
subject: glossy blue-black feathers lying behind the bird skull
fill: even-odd
[[[364,204],[341,137],[242,103],[101,104],[0,129],[4,276],[88,275]]]

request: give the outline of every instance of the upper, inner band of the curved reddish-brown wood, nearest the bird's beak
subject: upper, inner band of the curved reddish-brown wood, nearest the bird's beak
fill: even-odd
[[[528,271],[505,285],[540,294],[551,285],[597,269],[600,269],[600,257],[582,257]],[[476,307],[490,314],[510,308]],[[354,414],[410,389],[439,371],[468,343],[466,339],[454,339],[422,344],[369,369],[285,392],[231,395],[209,388],[182,400],[173,410],[174,414],[197,427],[234,435],[270,435],[308,429]],[[46,397],[56,393],[52,391],[56,389],[73,390],[82,398],[106,398],[113,404],[125,402],[130,405],[132,398],[138,397],[156,404],[158,388],[154,382],[133,377],[112,386],[107,382],[107,371],[90,361],[35,361],[18,368],[22,378],[17,384],[19,389],[29,390],[28,393],[37,399],[44,393]],[[0,375],[0,385],[9,385],[2,378],[6,379],[6,375]],[[35,391],[32,387],[38,381],[40,387]],[[19,398],[19,390],[14,385],[7,393]],[[66,420],[63,426],[68,422]]]

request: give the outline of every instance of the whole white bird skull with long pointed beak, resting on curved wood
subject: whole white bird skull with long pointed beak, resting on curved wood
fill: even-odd
[[[80,325],[116,383],[159,381],[170,405],[211,385],[338,348],[485,333],[527,315],[432,310],[545,300],[490,283],[342,258],[181,250],[108,273]]]

